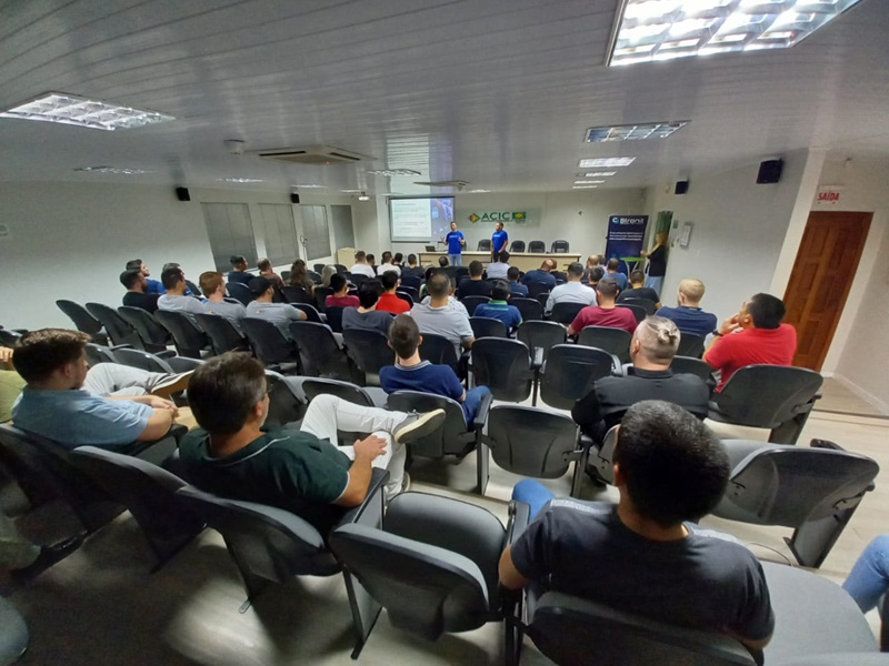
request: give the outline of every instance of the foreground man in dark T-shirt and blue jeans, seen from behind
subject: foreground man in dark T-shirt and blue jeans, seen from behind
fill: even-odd
[[[695,524],[722,498],[728,477],[728,456],[706,425],[677,405],[637,403],[615,448],[618,504],[549,502],[503,551],[500,583],[722,632],[761,650],[775,615],[759,561],[732,537]],[[548,496],[533,480],[513,491],[538,505]]]

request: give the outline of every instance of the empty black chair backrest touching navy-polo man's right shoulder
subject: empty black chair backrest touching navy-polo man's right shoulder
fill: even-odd
[[[518,340],[482,337],[472,344],[476,385],[488,386],[495,400],[521,402],[531,394],[531,359]]]

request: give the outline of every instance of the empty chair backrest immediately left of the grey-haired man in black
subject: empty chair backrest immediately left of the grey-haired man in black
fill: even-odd
[[[495,462],[513,474],[558,478],[577,448],[570,417],[536,407],[497,405],[488,412],[487,442]]]

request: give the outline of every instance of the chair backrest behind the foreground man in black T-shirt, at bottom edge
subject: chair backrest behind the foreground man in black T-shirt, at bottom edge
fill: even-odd
[[[559,666],[753,666],[748,649],[728,635],[687,629],[616,610],[560,592],[533,604],[528,635]]]

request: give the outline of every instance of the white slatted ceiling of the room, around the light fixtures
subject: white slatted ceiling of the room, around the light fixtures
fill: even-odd
[[[321,193],[568,191],[581,158],[638,155],[647,186],[820,147],[889,158],[889,1],[797,47],[606,68],[618,0],[43,0],[0,4],[0,107],[47,91],[170,113],[102,132],[0,119],[0,180]],[[690,120],[657,141],[587,144],[592,125]],[[372,155],[296,167],[231,155],[327,144]],[[109,164],[154,173],[78,173]],[[408,168],[387,179],[370,169]],[[256,178],[251,185],[219,183]]]

